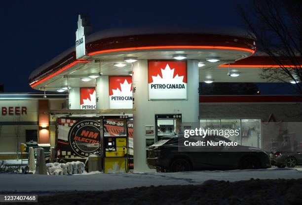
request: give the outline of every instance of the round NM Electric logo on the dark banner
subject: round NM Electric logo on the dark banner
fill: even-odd
[[[79,121],[71,127],[68,139],[74,153],[80,157],[99,154],[100,123],[92,120]]]

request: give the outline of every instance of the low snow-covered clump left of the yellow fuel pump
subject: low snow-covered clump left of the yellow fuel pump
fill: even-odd
[[[50,175],[68,175],[68,174],[82,174],[85,172],[85,164],[82,162],[69,163],[47,163],[47,172]]]

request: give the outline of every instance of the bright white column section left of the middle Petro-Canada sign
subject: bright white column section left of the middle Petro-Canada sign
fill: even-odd
[[[109,109],[109,76],[96,79],[96,109]]]

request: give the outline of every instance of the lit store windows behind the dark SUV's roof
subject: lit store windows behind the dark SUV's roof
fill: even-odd
[[[200,119],[202,129],[238,129],[239,136],[230,136],[239,145],[262,147],[260,119]]]

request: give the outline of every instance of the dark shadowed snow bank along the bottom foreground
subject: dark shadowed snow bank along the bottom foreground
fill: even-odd
[[[39,196],[39,204],[302,205],[301,190],[302,179],[208,180],[199,185],[134,187],[105,192],[73,191],[64,193],[64,197],[54,193]]]

